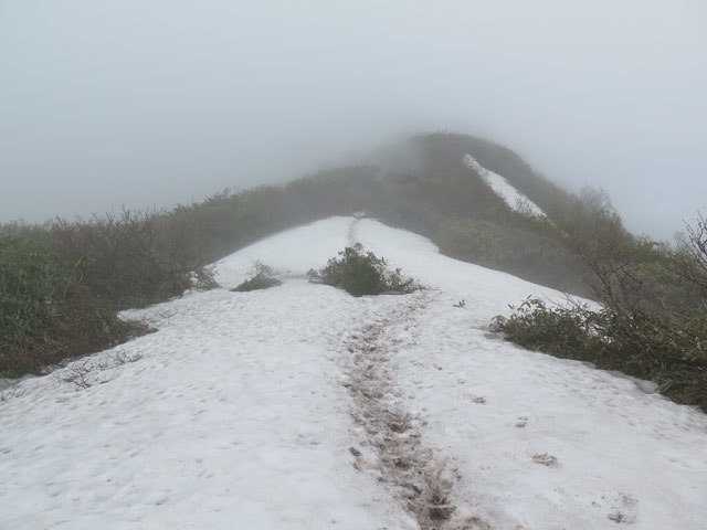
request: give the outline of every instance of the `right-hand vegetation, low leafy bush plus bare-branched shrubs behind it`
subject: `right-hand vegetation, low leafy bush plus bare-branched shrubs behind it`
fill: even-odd
[[[496,329],[529,349],[652,380],[707,411],[707,222],[666,248],[629,234],[605,198],[591,197],[563,229],[602,308],[529,298],[496,317]]]

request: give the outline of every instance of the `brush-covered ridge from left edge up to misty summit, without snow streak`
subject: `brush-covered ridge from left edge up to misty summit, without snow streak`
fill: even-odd
[[[581,264],[547,220],[509,208],[471,155],[549,215],[569,204],[513,151],[435,134],[285,186],[225,190],[173,210],[0,226],[0,375],[38,373],[139,332],[116,311],[214,286],[209,263],[261,237],[366,212],[432,239],[447,255],[581,293]],[[21,273],[20,273],[21,272]]]

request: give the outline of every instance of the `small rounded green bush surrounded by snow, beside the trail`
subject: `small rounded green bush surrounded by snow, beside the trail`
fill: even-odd
[[[400,268],[390,271],[384,258],[363,252],[360,243],[347,246],[339,257],[330,258],[319,271],[309,271],[307,276],[354,296],[405,295],[421,288],[414,279],[403,277]]]

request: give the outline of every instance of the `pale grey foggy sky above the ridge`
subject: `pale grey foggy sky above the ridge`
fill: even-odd
[[[451,129],[669,240],[707,213],[706,64],[704,0],[0,0],[0,222]]]

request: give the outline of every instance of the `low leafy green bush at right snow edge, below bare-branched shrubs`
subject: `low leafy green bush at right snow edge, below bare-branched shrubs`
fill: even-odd
[[[707,315],[658,315],[585,306],[548,307],[528,298],[494,328],[506,340],[555,357],[648,379],[661,393],[707,412]]]

